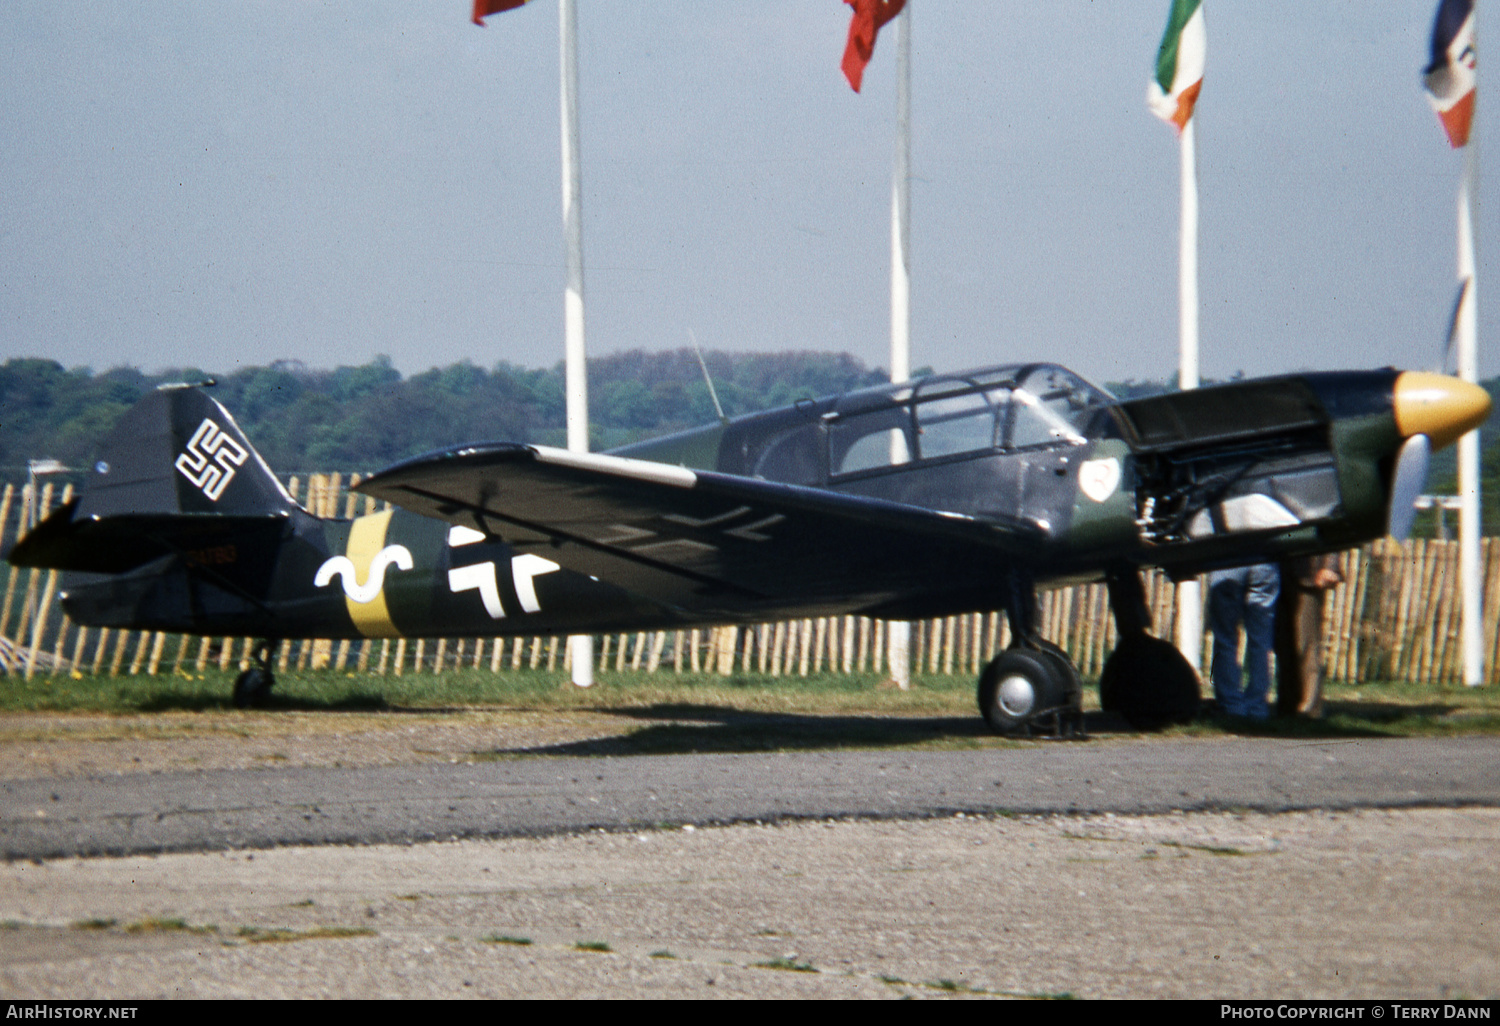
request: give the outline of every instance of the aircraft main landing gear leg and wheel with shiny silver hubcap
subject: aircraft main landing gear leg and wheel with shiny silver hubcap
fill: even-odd
[[[1005,616],[1011,646],[980,675],[980,714],[1000,734],[1030,734],[1032,728],[1059,736],[1083,734],[1083,684],[1072,660],[1036,634],[1036,591],[1030,580],[1011,578]]]

